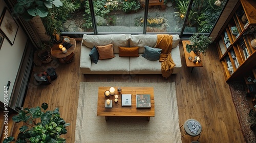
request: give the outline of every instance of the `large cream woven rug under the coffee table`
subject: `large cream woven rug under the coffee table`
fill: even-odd
[[[155,116],[97,116],[99,86],[154,87]],[[175,83],[80,82],[75,142],[182,142]]]

